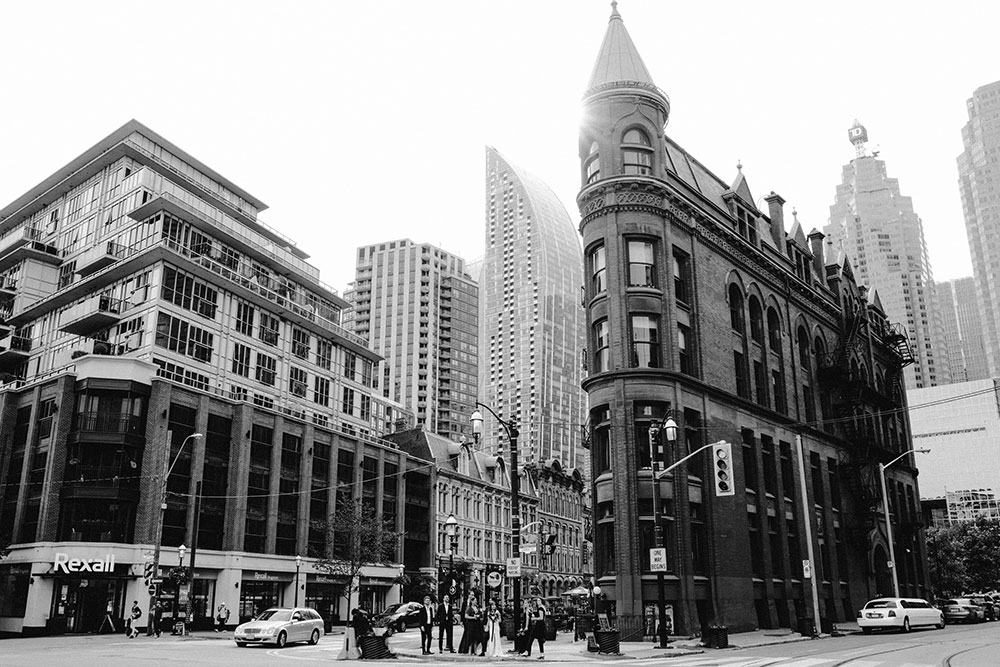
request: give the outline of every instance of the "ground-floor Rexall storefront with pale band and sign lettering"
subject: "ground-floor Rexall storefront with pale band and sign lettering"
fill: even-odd
[[[143,577],[152,553],[152,547],[93,542],[18,545],[0,561],[0,636],[123,632],[133,601],[143,612],[138,625],[145,627],[150,590]],[[231,610],[230,626],[269,607],[295,604],[317,609],[328,627],[349,618],[346,581],[317,572],[311,559],[297,568],[294,557],[200,551],[194,576],[178,582],[171,569],[183,565],[191,574],[190,560],[182,563],[180,556],[173,547],[161,550],[153,590],[167,632],[183,619],[194,630],[211,627],[222,603]],[[362,570],[369,604],[384,608],[399,601],[399,573],[398,566]],[[354,599],[357,604],[357,594]]]

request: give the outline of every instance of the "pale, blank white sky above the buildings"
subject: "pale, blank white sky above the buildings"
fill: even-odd
[[[1000,3],[620,0],[667,134],[724,181],[829,216],[858,118],[923,219],[937,280],[971,275],[955,158],[1000,79]],[[19,2],[0,10],[0,206],[131,118],[268,204],[343,291],[359,246],[484,254],[485,146],[576,223],[580,99],[604,0]],[[766,205],[759,206],[766,210]]]

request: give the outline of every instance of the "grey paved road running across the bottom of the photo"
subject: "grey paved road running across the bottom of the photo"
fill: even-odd
[[[560,635],[547,645],[547,662],[569,665],[656,664],[669,667],[996,667],[1000,665],[1000,634],[996,623],[949,626],[944,630],[903,634],[860,634],[799,641],[748,649],[706,649],[704,653],[668,657],[668,653],[640,651],[623,644],[625,659],[582,652],[571,635]],[[739,635],[731,640],[738,641]],[[38,637],[0,641],[3,667],[136,667],[137,665],[184,665],[185,667],[255,667],[257,665],[305,665],[335,660],[343,646],[343,635],[324,637],[316,646],[291,645],[284,649],[251,646],[238,648],[231,639],[163,637],[125,639],[121,635]],[[434,665],[489,662],[486,658],[437,654],[419,655],[419,633],[409,631],[390,640],[393,650],[403,653],[397,661]],[[435,642],[435,650],[437,649]],[[631,650],[630,650],[631,649]],[[645,657],[644,657],[645,656]],[[638,659],[628,660],[629,657]],[[373,661],[374,662],[374,661]],[[508,657],[503,662],[535,663],[533,659]],[[537,663],[535,663],[537,664]]]

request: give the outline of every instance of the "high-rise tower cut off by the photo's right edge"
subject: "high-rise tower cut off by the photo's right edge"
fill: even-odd
[[[1000,81],[977,88],[966,103],[958,187],[972,255],[990,374],[1000,375]]]

